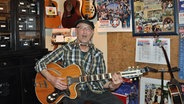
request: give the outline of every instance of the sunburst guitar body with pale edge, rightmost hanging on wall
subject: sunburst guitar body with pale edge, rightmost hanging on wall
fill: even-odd
[[[96,16],[95,0],[82,0],[81,8],[82,17],[85,19],[93,19]]]

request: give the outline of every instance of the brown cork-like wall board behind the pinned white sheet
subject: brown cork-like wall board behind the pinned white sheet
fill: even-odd
[[[171,39],[171,67],[178,67],[179,36],[172,35],[160,37]],[[167,65],[135,62],[136,38],[139,37],[133,37],[131,32],[107,33],[107,67],[109,72],[126,70],[129,66],[139,66],[140,68],[149,66],[158,70],[168,70]],[[144,76],[151,78],[161,78],[161,73],[148,72]],[[176,79],[178,79],[178,72],[174,72],[174,76]],[[164,78],[170,80],[170,74],[165,73]]]

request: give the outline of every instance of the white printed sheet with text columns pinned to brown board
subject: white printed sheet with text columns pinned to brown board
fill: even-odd
[[[170,39],[160,38],[161,45],[165,48],[170,60]],[[162,48],[156,43],[154,38],[137,38],[136,39],[136,62],[166,64]]]

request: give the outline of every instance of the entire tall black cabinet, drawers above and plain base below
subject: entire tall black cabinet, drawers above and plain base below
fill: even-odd
[[[0,0],[0,103],[39,104],[35,63],[48,53],[44,0]]]

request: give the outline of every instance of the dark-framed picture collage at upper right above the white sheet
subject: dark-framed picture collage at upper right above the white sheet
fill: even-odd
[[[178,34],[177,0],[133,0],[134,36]]]

